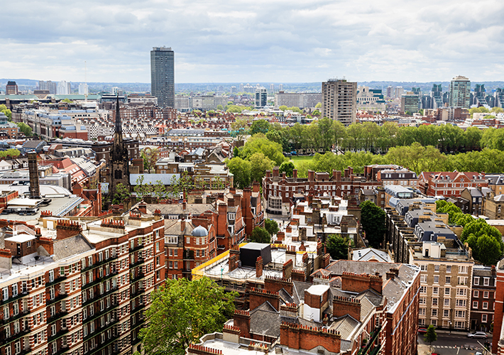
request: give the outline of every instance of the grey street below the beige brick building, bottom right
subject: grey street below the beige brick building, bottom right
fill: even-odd
[[[486,341],[491,342],[489,337]],[[481,345],[484,344],[484,339],[471,339],[466,337],[464,333],[437,333],[437,341],[432,343],[432,352],[441,355],[474,355],[476,351],[481,352]],[[418,335],[419,355],[424,355],[420,352],[420,348],[426,349],[428,351],[429,344],[425,344],[424,336],[422,334]]]

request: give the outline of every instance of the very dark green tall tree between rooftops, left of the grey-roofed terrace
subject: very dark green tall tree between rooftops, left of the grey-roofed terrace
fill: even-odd
[[[385,211],[372,201],[361,203],[361,225],[373,248],[380,248],[385,234]]]

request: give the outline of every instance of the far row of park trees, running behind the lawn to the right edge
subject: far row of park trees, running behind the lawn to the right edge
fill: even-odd
[[[242,134],[247,133],[246,122],[239,121],[234,127],[239,127]],[[236,132],[236,129],[233,131]],[[504,151],[504,130],[481,131],[476,127],[469,127],[464,131],[451,124],[412,127],[398,126],[392,122],[385,122],[383,126],[364,122],[345,127],[339,121],[324,118],[309,125],[295,124],[282,128],[280,124],[258,120],[248,129],[248,133],[264,133],[270,140],[279,143],[285,152],[300,149],[323,152],[340,148],[385,153],[391,147],[410,146],[415,142],[421,146],[434,146],[444,153],[478,151],[482,148]]]

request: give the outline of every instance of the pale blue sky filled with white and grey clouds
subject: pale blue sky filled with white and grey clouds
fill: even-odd
[[[150,82],[504,80],[504,1],[4,0],[0,77]],[[85,64],[84,64],[85,62]]]

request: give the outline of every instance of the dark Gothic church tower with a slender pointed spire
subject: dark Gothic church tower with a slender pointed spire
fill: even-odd
[[[116,187],[123,184],[128,190],[129,184],[129,159],[128,149],[124,146],[123,129],[121,125],[121,113],[119,111],[119,95],[116,101],[116,131],[114,132],[114,143],[111,149],[111,166],[109,175],[109,196],[110,201],[114,200]]]

